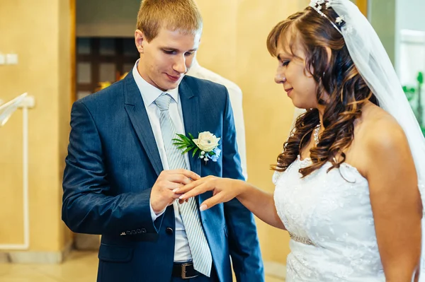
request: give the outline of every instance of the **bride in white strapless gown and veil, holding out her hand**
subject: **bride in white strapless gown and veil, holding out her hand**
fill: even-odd
[[[288,230],[287,281],[417,281],[425,142],[378,35],[351,1],[315,0],[267,45],[276,83],[307,109],[272,167],[274,195],[212,176],[175,193],[213,190],[201,211],[236,197]]]

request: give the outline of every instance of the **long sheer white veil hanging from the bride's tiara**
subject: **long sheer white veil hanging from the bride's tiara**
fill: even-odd
[[[316,0],[312,1],[310,6],[322,5],[326,2],[329,3],[326,6],[331,6],[338,14],[339,19],[336,21],[342,19],[345,22],[345,25],[342,25],[341,34],[358,72],[378,99],[380,107],[397,119],[407,136],[418,175],[422,204],[425,206],[425,139],[406,95],[404,95],[390,58],[372,25],[355,4],[349,0]],[[425,249],[424,223],[423,216],[422,249]],[[425,281],[424,254],[421,259],[419,281]]]

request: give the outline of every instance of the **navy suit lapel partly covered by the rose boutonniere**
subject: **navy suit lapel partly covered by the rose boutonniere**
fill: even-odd
[[[181,110],[183,111],[183,123],[186,136],[191,133],[196,138],[200,131],[199,98],[197,93],[193,93],[184,78],[180,83],[179,95],[181,99]],[[200,159],[196,156],[192,158],[191,152],[189,152],[189,154],[191,170],[200,175]]]

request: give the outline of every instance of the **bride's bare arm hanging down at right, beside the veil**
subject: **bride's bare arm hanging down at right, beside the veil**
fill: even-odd
[[[365,141],[366,178],[382,266],[387,282],[410,282],[421,255],[422,206],[416,169],[398,124],[375,126]]]

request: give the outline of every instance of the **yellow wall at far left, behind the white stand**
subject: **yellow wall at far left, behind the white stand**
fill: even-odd
[[[69,133],[69,1],[1,1],[0,52],[18,54],[0,66],[0,98],[28,92],[30,252],[60,252],[71,233],[60,219],[62,170]],[[7,40],[4,40],[7,39]],[[22,117],[0,129],[0,244],[23,243]]]

